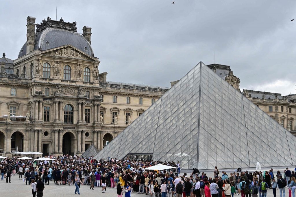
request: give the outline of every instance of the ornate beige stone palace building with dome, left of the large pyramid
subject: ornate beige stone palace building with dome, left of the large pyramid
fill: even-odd
[[[79,34],[76,22],[35,20],[27,18],[18,58],[0,58],[1,155],[81,155],[92,144],[100,150],[168,91],[107,81],[91,27]]]

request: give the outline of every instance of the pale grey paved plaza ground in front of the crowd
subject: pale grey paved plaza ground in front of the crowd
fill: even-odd
[[[18,176],[15,175],[11,177],[11,183],[6,183],[5,181],[0,181],[0,191],[3,196],[22,196],[22,197],[31,197],[32,188],[30,185],[26,185],[25,182],[19,180]],[[75,186],[74,185],[55,185],[54,181],[50,181],[49,185],[45,185],[43,196],[44,197],[55,197],[55,196],[77,196],[74,194]],[[104,196],[104,197],[116,197],[116,188],[107,188],[105,193],[102,193],[101,188],[95,187],[94,190],[90,190],[89,185],[81,185],[80,187],[81,196]],[[289,195],[288,189],[286,188],[286,197]],[[2,196],[2,195],[1,195]],[[124,193],[123,193],[124,196]],[[145,197],[145,194],[131,193],[131,196],[135,197]],[[238,196],[238,195],[235,195]],[[235,197],[234,196],[234,197]],[[276,196],[279,195],[279,190],[277,190]],[[238,196],[240,197],[240,195]],[[273,197],[272,190],[267,190],[267,197]]]

